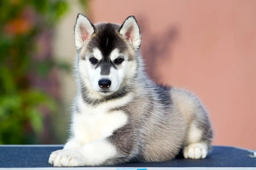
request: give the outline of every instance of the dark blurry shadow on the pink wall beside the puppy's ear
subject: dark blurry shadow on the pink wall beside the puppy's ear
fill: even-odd
[[[160,60],[161,65],[171,66],[172,48],[179,35],[178,28],[171,26],[163,32],[153,34],[147,29],[148,24],[144,17],[137,17],[137,20],[142,34],[141,53],[145,59],[146,72],[155,82],[160,82],[157,60]],[[171,56],[167,54],[171,54]]]

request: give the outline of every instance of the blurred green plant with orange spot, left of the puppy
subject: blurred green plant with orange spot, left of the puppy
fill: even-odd
[[[68,67],[43,54],[38,40],[67,7],[65,0],[0,1],[0,144],[36,143],[45,111],[58,109],[55,99],[35,88],[31,79]]]

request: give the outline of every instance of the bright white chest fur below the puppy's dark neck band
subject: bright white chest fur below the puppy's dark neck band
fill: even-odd
[[[78,99],[80,113],[73,115],[73,135],[83,143],[93,142],[111,136],[114,130],[122,127],[127,122],[127,115],[122,111],[108,112],[116,106],[125,105],[130,97],[119,99],[122,101],[111,101],[92,107]]]

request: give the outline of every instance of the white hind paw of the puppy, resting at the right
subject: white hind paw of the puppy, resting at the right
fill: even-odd
[[[186,159],[204,159],[207,156],[208,147],[204,143],[189,144],[183,148],[183,156]]]

